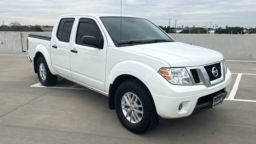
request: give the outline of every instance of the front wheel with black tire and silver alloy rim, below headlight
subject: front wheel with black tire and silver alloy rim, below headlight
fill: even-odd
[[[115,109],[121,124],[135,134],[147,132],[158,124],[153,98],[138,80],[128,80],[118,86]]]

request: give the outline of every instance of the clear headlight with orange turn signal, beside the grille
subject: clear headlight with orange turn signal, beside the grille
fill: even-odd
[[[186,68],[161,68],[158,72],[172,84],[192,85]]]

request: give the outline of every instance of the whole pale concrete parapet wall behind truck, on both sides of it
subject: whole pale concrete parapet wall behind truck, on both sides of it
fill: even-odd
[[[0,51],[26,52],[28,34],[52,32],[0,32]],[[246,34],[170,34],[177,42],[202,46],[221,52],[225,58],[256,58],[256,35]]]

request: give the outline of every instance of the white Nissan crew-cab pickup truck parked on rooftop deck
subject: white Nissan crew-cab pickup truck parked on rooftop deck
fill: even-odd
[[[28,60],[42,85],[57,75],[109,97],[122,125],[142,134],[162,118],[222,104],[231,72],[219,52],[175,42],[145,18],[69,14],[52,36],[30,34]]]

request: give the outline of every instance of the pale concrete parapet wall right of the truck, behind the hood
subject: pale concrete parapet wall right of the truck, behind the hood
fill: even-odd
[[[176,42],[221,52],[225,58],[256,58],[254,34],[169,34]]]

